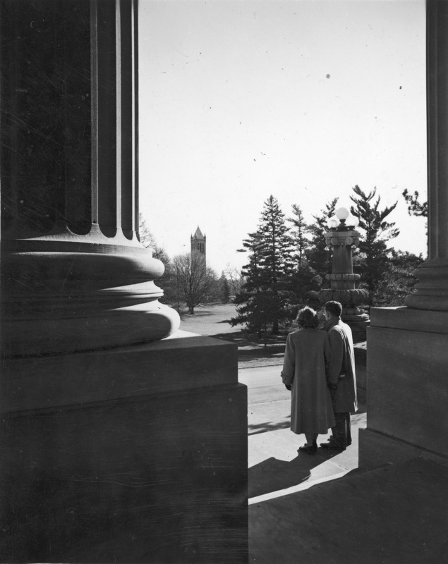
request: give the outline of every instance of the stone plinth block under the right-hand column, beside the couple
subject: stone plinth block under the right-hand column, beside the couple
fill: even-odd
[[[369,431],[448,456],[447,329],[443,312],[372,310],[367,345]]]

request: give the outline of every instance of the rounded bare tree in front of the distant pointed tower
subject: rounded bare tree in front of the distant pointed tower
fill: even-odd
[[[172,262],[173,274],[178,288],[186,301],[188,312],[194,314],[195,307],[207,299],[217,285],[217,276],[207,268],[203,255],[178,255]]]

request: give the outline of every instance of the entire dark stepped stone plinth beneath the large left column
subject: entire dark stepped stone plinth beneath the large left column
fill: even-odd
[[[245,563],[236,351],[191,337],[8,361],[3,560]]]

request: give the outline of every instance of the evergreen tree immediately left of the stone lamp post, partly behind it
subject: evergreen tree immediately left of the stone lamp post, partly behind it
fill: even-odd
[[[315,221],[308,226],[312,237],[306,255],[311,269],[315,271],[315,275],[320,276],[321,284],[325,280],[325,275],[332,272],[332,250],[325,243],[325,233],[328,231],[329,218],[334,216],[337,200],[334,198],[327,202],[320,216],[313,216]]]

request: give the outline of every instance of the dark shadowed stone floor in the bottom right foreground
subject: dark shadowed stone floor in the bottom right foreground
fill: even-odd
[[[250,505],[250,563],[446,563],[447,502],[435,462],[355,471]]]

